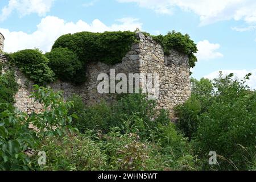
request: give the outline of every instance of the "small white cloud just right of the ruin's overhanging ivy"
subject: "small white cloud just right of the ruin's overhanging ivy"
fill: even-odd
[[[208,40],[200,41],[197,43],[197,49],[199,50],[196,53],[197,59],[202,61],[223,57],[222,53],[216,52],[219,48],[220,44],[212,44]]]

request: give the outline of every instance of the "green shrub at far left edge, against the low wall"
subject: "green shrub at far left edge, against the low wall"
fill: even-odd
[[[0,103],[14,104],[14,96],[18,92],[18,84],[13,71],[0,75]]]

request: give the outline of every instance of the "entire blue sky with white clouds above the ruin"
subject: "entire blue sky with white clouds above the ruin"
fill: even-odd
[[[0,32],[5,51],[49,51],[60,35],[79,31],[188,33],[199,47],[193,77],[234,72],[256,89],[254,0],[1,0]]]

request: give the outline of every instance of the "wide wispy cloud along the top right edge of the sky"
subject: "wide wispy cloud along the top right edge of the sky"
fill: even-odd
[[[117,0],[137,2],[139,6],[155,10],[157,13],[171,14],[174,7],[192,11],[200,16],[201,25],[220,20],[245,20],[256,23],[255,0]]]

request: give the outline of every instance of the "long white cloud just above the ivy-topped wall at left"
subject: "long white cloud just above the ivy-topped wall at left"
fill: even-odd
[[[9,31],[0,28],[0,32],[5,36],[5,51],[15,52],[26,48],[39,48],[42,51],[49,51],[59,36],[80,31],[104,32],[104,31],[134,31],[136,28],[142,28],[142,23],[138,19],[123,18],[118,19],[117,23],[106,26],[100,20],[95,19],[88,24],[82,20],[76,23],[65,22],[56,16],[46,16],[37,26],[37,30],[32,34],[26,32]]]

